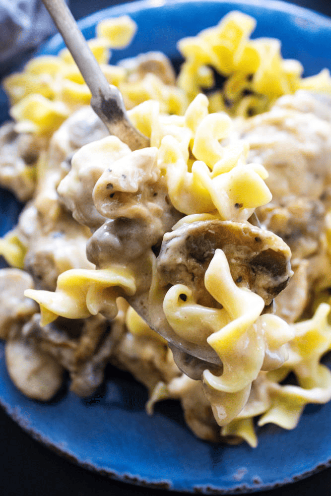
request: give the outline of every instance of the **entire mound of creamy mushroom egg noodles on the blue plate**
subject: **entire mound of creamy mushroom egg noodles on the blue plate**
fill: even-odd
[[[257,417],[293,429],[307,403],[331,399],[321,363],[331,350],[331,112],[319,100],[331,78],[302,78],[278,40],[250,38],[254,28],[234,11],[180,40],[176,77],[156,52],[109,65],[136,26],[128,16],[97,26],[90,47],[150,138],[133,152],[87,107],[67,50],[4,81],[14,123],[0,130],[0,184],[29,201],[0,240],[11,266],[0,273],[0,337],[24,394],[50,399],[65,370],[73,391],[92,394],[111,362],[146,385],[148,413],[178,398],[199,437],[252,446]],[[225,80],[216,90],[215,72]],[[293,156],[307,175],[320,164],[310,196],[286,182]],[[127,303],[140,297],[155,327],[221,365],[200,380],[181,372]]]

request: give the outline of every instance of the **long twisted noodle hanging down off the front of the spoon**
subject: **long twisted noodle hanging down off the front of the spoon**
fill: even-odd
[[[237,408],[232,411],[233,415],[238,415],[247,401],[252,381],[264,365],[266,350],[271,348],[273,353],[279,355],[280,364],[283,363],[287,354],[282,346],[290,341],[293,333],[279,317],[260,316],[264,309],[262,298],[236,286],[221,250],[216,250],[209,264],[205,285],[215,300],[222,304],[229,320],[228,324],[207,338],[208,344],[221,358],[223,373],[221,376],[215,376],[208,370],[203,373],[207,391],[211,390],[215,418],[220,425],[224,425],[224,422],[227,424],[232,420],[231,412],[226,411],[224,402],[227,397],[224,393],[231,393],[228,404],[231,409],[234,409],[234,403],[237,404]],[[217,413],[217,400],[222,405],[221,416]]]

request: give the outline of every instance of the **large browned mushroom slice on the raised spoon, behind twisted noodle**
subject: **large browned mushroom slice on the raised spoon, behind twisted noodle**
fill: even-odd
[[[238,286],[257,293],[265,305],[292,275],[291,251],[281,238],[249,223],[213,219],[184,224],[164,235],[157,258],[160,284],[186,284],[199,304],[215,306],[203,279],[216,248],[224,251]]]

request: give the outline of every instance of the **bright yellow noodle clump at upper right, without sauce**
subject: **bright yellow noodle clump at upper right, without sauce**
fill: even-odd
[[[302,78],[300,62],[282,59],[279,40],[250,38],[255,25],[254,18],[233,11],[217,26],[180,40],[178,49],[186,61],[178,84],[186,89],[190,101],[201,88],[212,88],[211,74],[208,80],[200,77],[201,71],[209,72],[210,67],[225,78],[222,89],[210,96],[212,112],[250,117],[267,111],[279,96],[300,88],[330,93],[327,69]]]

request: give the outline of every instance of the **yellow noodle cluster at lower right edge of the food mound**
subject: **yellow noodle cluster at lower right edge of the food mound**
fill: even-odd
[[[277,370],[260,372],[252,393],[237,418],[222,427],[222,435],[234,435],[257,445],[253,418],[258,426],[276,424],[294,429],[307,403],[326,403],[331,399],[331,372],[320,363],[331,349],[330,305],[321,304],[314,316],[291,325],[294,337],[288,343],[288,359]],[[279,384],[294,372],[299,385]]]

